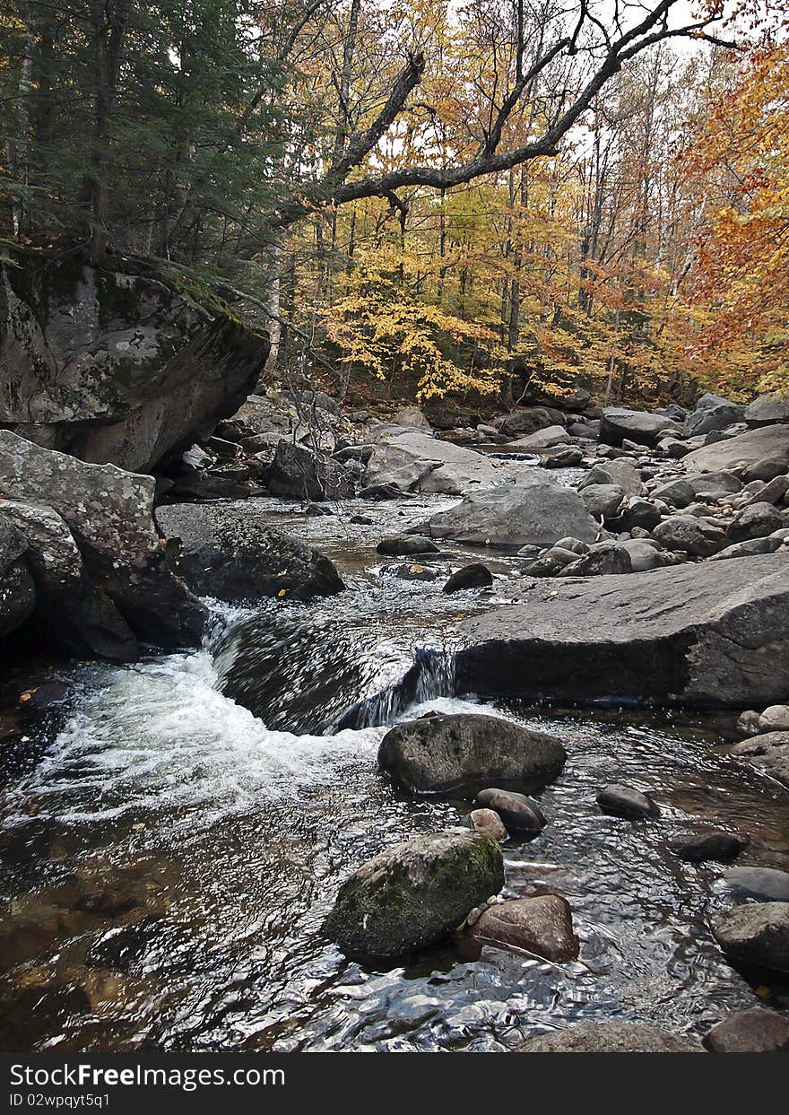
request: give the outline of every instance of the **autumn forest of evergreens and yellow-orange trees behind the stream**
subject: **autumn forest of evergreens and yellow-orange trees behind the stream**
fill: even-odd
[[[0,259],[144,266],[335,394],[789,386],[785,3],[0,0]]]

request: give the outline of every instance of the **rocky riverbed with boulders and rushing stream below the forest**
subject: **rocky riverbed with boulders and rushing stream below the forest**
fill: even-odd
[[[789,426],[587,403],[0,432],[7,1047],[786,1044]]]

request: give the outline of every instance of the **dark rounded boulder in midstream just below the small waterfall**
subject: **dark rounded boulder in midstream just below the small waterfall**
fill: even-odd
[[[378,752],[382,770],[411,792],[477,791],[496,783],[542,789],[561,772],[562,744],[495,716],[440,714],[399,724]]]

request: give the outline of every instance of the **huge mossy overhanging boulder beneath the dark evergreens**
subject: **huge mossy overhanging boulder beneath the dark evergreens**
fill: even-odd
[[[0,424],[144,472],[253,390],[269,342],[217,300],[207,309],[120,261],[14,254],[0,266]]]

